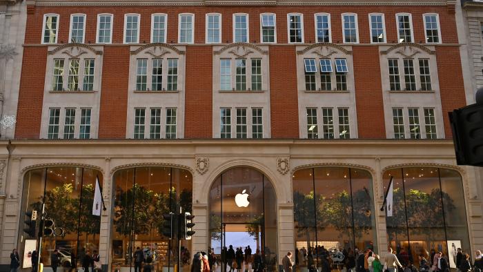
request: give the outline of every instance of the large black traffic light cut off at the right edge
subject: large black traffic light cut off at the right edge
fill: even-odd
[[[483,166],[483,101],[453,110],[449,120],[457,164]]]

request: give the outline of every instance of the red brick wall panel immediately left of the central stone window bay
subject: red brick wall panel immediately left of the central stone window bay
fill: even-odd
[[[213,49],[193,46],[186,52],[184,137],[213,137]]]

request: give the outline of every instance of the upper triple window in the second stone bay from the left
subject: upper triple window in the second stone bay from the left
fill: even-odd
[[[166,67],[166,85],[164,84]],[[178,59],[136,59],[136,90],[177,90]]]

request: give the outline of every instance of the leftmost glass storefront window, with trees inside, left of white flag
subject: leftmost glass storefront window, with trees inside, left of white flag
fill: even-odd
[[[43,237],[41,260],[44,266],[50,266],[50,255],[55,249],[59,251],[59,267],[76,263],[80,266],[86,253],[92,255],[99,249],[101,217],[92,215],[96,177],[102,186],[102,174],[89,168],[38,168],[24,176],[21,221],[26,211],[38,211],[38,233],[44,203],[46,218],[54,222],[50,228],[57,234]],[[23,233],[23,224],[20,225],[19,244],[28,247],[24,251],[34,250],[34,239]]]

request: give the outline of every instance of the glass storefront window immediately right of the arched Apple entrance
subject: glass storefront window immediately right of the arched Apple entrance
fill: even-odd
[[[377,251],[373,181],[367,171],[317,167],[293,175],[295,260],[300,271],[342,269],[355,249]]]

